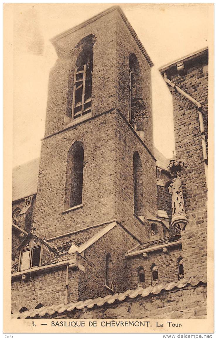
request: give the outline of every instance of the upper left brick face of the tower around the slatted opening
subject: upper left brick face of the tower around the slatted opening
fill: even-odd
[[[89,24],[64,34],[54,42],[58,59],[53,66],[48,88],[48,102],[45,136],[61,131],[65,127],[64,117],[68,115],[74,81],[74,67],[77,58],[75,46],[81,39],[93,35],[93,115],[116,107],[116,15],[114,11],[103,15]]]

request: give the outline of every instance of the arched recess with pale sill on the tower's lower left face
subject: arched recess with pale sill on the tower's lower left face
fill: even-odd
[[[80,205],[82,202],[83,157],[83,147],[78,141],[74,142],[74,144],[70,147],[67,156],[64,199],[65,210],[70,207]]]

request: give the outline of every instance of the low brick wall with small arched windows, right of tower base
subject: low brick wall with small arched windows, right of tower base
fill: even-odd
[[[168,254],[163,253],[163,249],[151,253],[147,253],[148,258],[144,258],[142,254],[127,257],[127,279],[128,288],[135,289],[138,287],[138,271],[140,267],[144,268],[145,282],[141,283],[142,287],[151,285],[151,266],[155,264],[158,267],[158,284],[177,281],[178,266],[177,260],[182,257],[181,245],[168,248]],[[185,266],[184,266],[185,272]],[[153,286],[156,282],[153,281]]]

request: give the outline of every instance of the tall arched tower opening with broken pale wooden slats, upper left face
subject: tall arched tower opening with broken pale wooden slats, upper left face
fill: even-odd
[[[82,39],[77,48],[81,49],[74,74],[72,117],[79,118],[91,113],[93,75],[93,37]]]

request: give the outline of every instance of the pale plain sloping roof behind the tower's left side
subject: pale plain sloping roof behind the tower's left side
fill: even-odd
[[[12,201],[25,198],[37,192],[39,158],[13,168]]]

